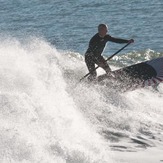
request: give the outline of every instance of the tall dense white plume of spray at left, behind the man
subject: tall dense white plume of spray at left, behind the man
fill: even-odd
[[[60,55],[38,38],[1,39],[0,162],[111,162],[66,91]]]

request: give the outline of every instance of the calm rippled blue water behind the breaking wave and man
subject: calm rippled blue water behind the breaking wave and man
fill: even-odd
[[[60,49],[84,54],[99,23],[114,37],[133,38],[131,50],[163,51],[163,1],[3,1],[0,33],[24,39],[43,37]],[[109,43],[105,55],[120,45]]]

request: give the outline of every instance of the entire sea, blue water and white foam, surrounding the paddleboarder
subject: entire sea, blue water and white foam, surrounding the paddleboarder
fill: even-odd
[[[88,72],[83,54],[99,23],[135,40],[112,69],[162,56],[163,1],[0,4],[0,162],[128,163],[121,155],[131,153],[140,163],[136,153],[163,151],[162,84],[123,94],[76,85]],[[108,43],[104,55],[122,46]]]

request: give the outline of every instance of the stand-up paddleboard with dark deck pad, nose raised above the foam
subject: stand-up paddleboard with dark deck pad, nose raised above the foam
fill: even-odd
[[[150,63],[154,61],[157,66],[153,67]],[[160,69],[157,70],[155,67],[160,68],[162,71]],[[120,91],[157,85],[163,82],[163,58],[138,63],[112,71],[110,74],[100,75],[97,81]]]

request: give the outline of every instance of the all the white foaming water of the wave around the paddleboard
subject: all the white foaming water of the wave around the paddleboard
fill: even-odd
[[[124,52],[111,68],[158,55]],[[0,39],[1,163],[163,161],[163,85],[126,93],[76,86],[86,73],[81,54],[43,38]]]

